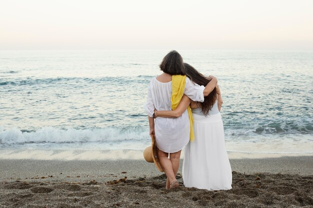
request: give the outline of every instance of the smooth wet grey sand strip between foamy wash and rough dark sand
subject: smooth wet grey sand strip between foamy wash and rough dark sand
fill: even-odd
[[[230,159],[232,171],[246,174],[313,175],[313,156]],[[118,177],[155,177],[161,173],[153,163],[144,160],[13,160],[0,159],[0,181],[31,180],[90,180],[108,181]],[[181,174],[182,159],[178,173]],[[126,174],[122,173],[126,172]],[[111,175],[110,175],[111,174]],[[53,177],[48,177],[48,176]],[[69,177],[66,177],[69,176]],[[77,177],[80,176],[80,177]],[[104,177],[105,176],[105,177]]]

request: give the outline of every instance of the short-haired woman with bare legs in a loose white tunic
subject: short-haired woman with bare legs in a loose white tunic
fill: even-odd
[[[176,174],[179,167],[181,149],[188,143],[190,135],[190,122],[187,110],[181,112],[179,118],[153,119],[154,109],[171,110],[171,76],[185,75],[184,65],[177,51],[170,51],[160,63],[163,73],[150,81],[148,87],[147,102],[144,110],[148,115],[150,136],[155,136],[157,157],[167,176],[166,189],[174,189],[178,186]],[[184,95],[193,101],[203,102],[215,87],[217,80],[204,86],[194,84],[186,78]]]

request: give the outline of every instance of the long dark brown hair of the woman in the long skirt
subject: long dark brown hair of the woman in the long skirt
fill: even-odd
[[[187,77],[193,81],[194,83],[197,83],[198,85],[207,85],[209,83],[209,80],[203,76],[200,72],[198,72],[195,68],[193,68],[191,65],[184,63],[185,71]],[[203,103],[201,103],[201,109],[202,113],[207,116],[208,112],[212,109],[215,101],[217,98],[217,91],[216,87],[213,89],[213,91],[208,94],[208,96],[204,97]]]

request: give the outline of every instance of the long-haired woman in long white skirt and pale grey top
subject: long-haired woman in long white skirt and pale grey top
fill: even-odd
[[[199,85],[207,84],[207,78],[185,63],[187,76]],[[216,84],[215,89],[204,98],[203,103],[183,96],[173,111],[155,110],[155,117],[176,118],[188,105],[193,116],[194,141],[185,148],[182,178],[185,187],[206,190],[231,189],[232,175],[224,145],[224,129],[220,116],[222,99]],[[157,109],[157,108],[156,108]]]

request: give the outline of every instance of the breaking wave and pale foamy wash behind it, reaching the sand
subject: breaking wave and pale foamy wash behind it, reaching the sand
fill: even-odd
[[[142,151],[150,142],[145,129],[60,130],[45,127],[21,132],[16,128],[0,128],[0,159],[138,160],[142,159]],[[311,135],[225,136],[225,147],[231,159],[313,154]]]

